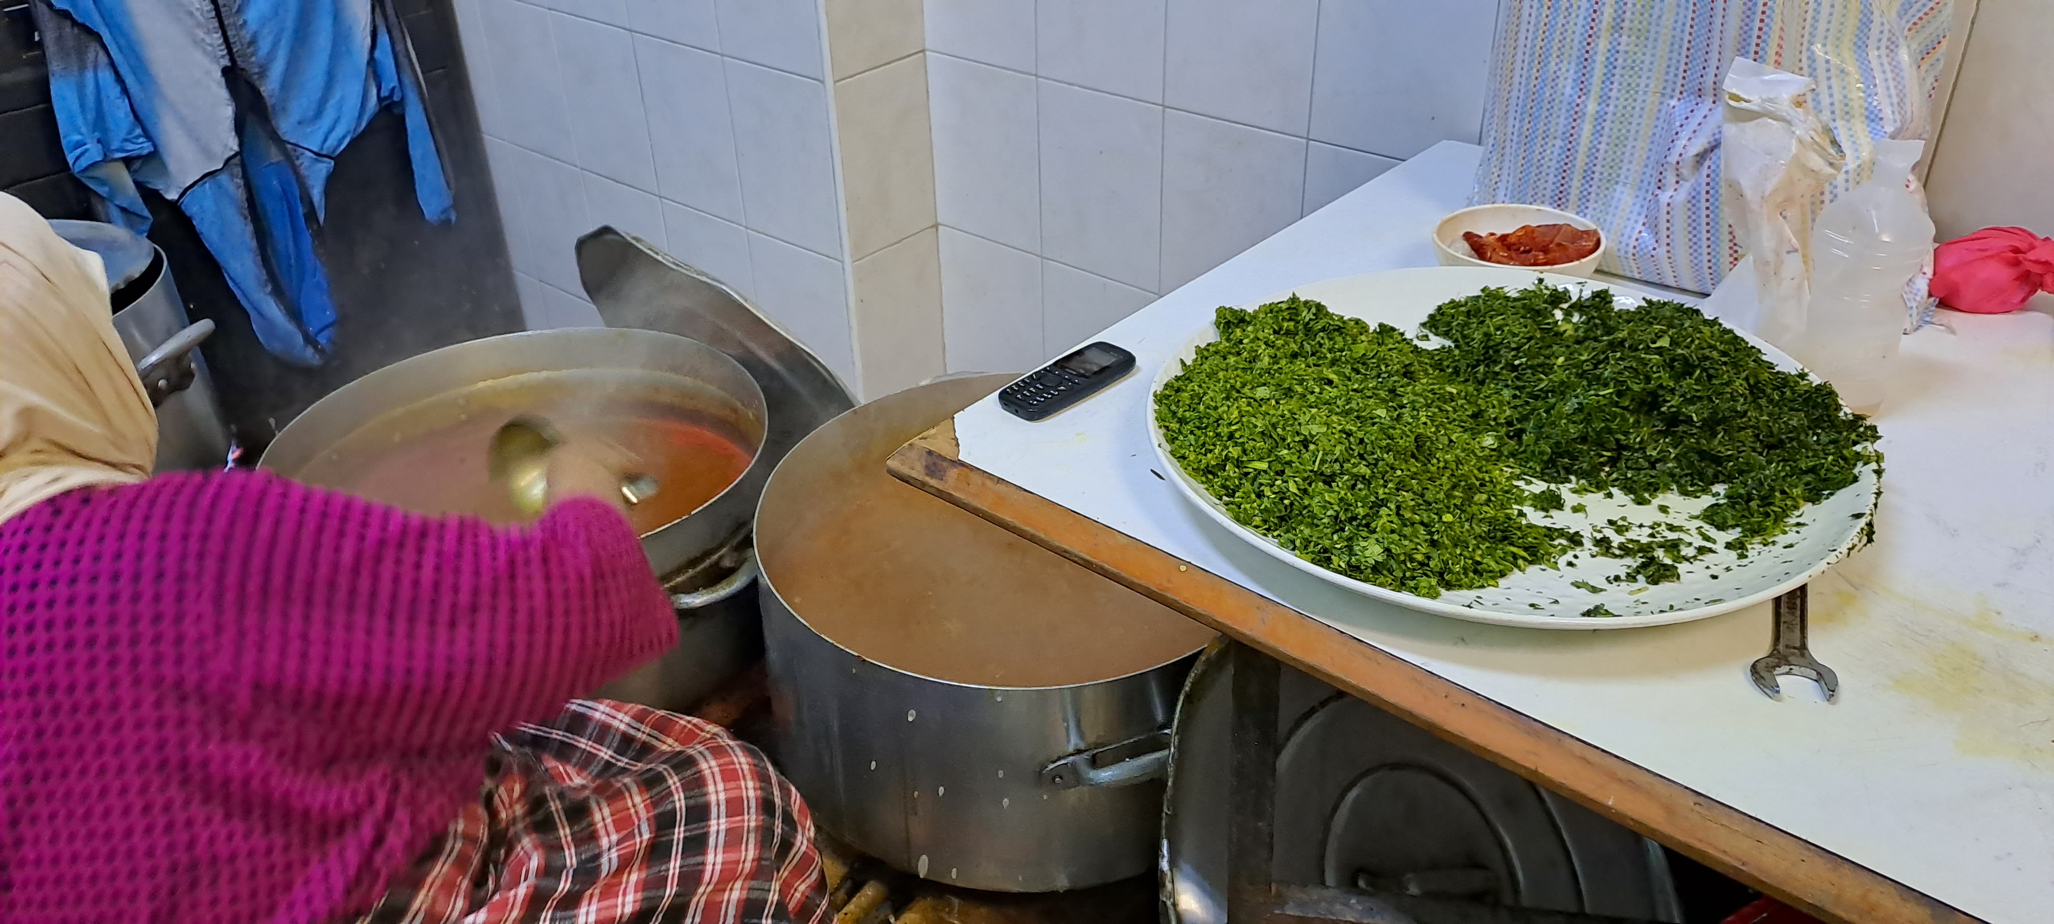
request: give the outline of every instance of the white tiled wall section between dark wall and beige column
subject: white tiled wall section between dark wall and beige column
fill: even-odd
[[[596,324],[612,224],[744,292],[852,386],[820,0],[456,0],[530,326]]]

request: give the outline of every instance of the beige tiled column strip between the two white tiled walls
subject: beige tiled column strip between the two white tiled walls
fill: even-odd
[[[920,0],[826,0],[863,396],[939,376],[941,248]]]

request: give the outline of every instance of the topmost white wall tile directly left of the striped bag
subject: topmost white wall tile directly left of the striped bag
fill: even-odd
[[[1345,0],[1319,14],[1315,142],[1409,158],[1475,142],[1497,0]]]

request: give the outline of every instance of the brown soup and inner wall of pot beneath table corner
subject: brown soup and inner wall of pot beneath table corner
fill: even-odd
[[[768,591],[842,651],[955,686],[1105,684],[1204,649],[1204,624],[885,472],[1013,378],[906,388],[805,437],[756,511]]]

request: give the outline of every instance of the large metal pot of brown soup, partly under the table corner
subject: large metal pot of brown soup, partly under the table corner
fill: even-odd
[[[1119,600],[1132,591],[889,480],[885,456],[1011,378],[943,380],[863,405],[805,437],[772,474],[756,550],[776,756],[824,830],[891,867],[976,889],[1078,889],[1152,869],[1177,690],[1212,632],[1144,598]],[[908,532],[852,532],[850,519],[836,519],[850,505],[904,509]],[[943,548],[939,534],[949,536]],[[867,604],[838,610],[844,602],[820,598],[817,577],[850,567],[836,548],[859,546],[891,552],[850,573],[861,581],[850,593]],[[939,618],[908,632],[961,628],[992,645],[1019,639],[1002,641],[1006,626],[990,620],[978,626],[980,608],[1109,600],[1089,614],[1101,622],[1074,624],[1087,630],[1058,641],[1074,653],[1066,663],[1091,663],[1105,657],[1095,647],[1136,639],[1126,628],[1146,637],[1134,649],[1146,661],[1060,686],[984,686],[893,667],[877,639],[844,647],[861,637],[850,614],[881,598],[877,581],[945,598]]]

